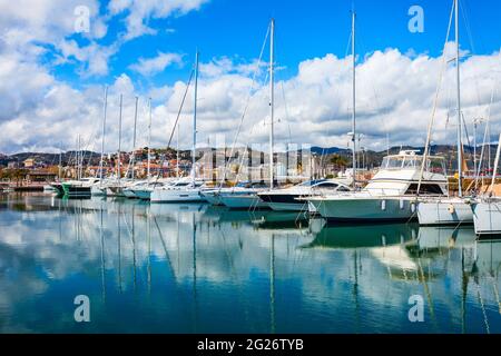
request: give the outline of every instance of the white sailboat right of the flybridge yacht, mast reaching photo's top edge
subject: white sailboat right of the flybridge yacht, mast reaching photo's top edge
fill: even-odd
[[[418,219],[420,225],[458,225],[473,224],[473,212],[468,199],[463,197],[463,145],[461,118],[461,81],[460,81],[460,48],[459,48],[459,0],[454,0],[455,12],[455,71],[456,71],[456,111],[458,111],[458,197],[441,197],[432,199],[418,198]],[[444,55],[445,56],[445,55]],[[430,132],[428,142],[430,140]],[[428,144],[426,142],[426,144]],[[426,145],[428,147],[428,145]],[[428,151],[428,148],[426,148]],[[425,152],[426,155],[428,152]],[[419,194],[419,191],[418,191]]]

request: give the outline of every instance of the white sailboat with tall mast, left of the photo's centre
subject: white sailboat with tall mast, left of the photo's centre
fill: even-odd
[[[205,201],[200,195],[202,184],[196,180],[196,142],[197,142],[197,92],[198,90],[198,51],[195,57],[195,92],[193,113],[191,177],[189,181],[155,187],[150,192],[151,202],[198,202]]]

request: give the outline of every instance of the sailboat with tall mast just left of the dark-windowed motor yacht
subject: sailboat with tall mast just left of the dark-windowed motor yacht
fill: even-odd
[[[275,40],[275,19],[271,21],[271,40],[269,40],[269,189],[274,186],[274,132],[273,125],[275,120],[275,88],[274,88],[274,40]],[[230,209],[250,209],[267,208],[267,204],[258,197],[258,192],[265,191],[266,188],[250,184],[250,186],[234,188],[220,188],[219,191],[212,194],[212,198],[218,205],[224,205]]]

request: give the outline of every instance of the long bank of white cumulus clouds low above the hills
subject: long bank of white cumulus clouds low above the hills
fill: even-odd
[[[449,58],[449,57],[448,57]],[[277,80],[275,86],[277,144],[296,142],[346,147],[351,130],[351,57],[325,55],[307,59],[291,78]],[[269,96],[266,73],[258,77],[250,92],[252,73],[236,68],[242,62],[214,59],[200,65],[198,100],[199,144],[220,141],[230,144],[244,108],[247,106],[239,144],[267,142]],[[0,65],[0,78],[7,85],[3,100],[0,151],[72,148],[78,134],[98,147],[102,117],[102,87],[73,89],[58,82],[45,71],[38,76],[32,63],[19,58]],[[362,146],[384,150],[386,134],[392,145],[422,146],[425,141],[441,58],[428,55],[407,56],[396,49],[375,51],[357,61],[357,125],[364,138]],[[500,83],[498,52],[469,56],[461,67],[463,115],[468,125],[473,118],[487,117],[493,88]],[[266,68],[262,68],[266,69]],[[279,76],[278,76],[279,77]],[[22,86],[14,83],[23,81]],[[115,150],[118,141],[118,96],[124,95],[124,147],[131,148],[134,97],[140,96],[139,120],[147,120],[147,98],[154,99],[153,144],[167,144],[179,110],[186,83],[153,87],[139,91],[132,80],[122,75],[110,87],[108,107],[107,149]],[[455,135],[455,77],[450,63],[443,78],[433,131],[435,144],[452,144]],[[43,95],[42,95],[43,93]],[[501,98],[494,96],[491,107],[492,132],[501,129]],[[6,112],[9,112],[6,115]],[[181,147],[190,142],[193,87],[180,118]],[[450,118],[448,120],[448,118]],[[146,125],[139,125],[139,144],[146,144]],[[471,134],[471,130],[470,130]],[[217,138],[219,135],[219,138]],[[494,138],[493,134],[493,139]],[[480,139],[480,138],[479,138]],[[56,145],[57,142],[57,145]]]

